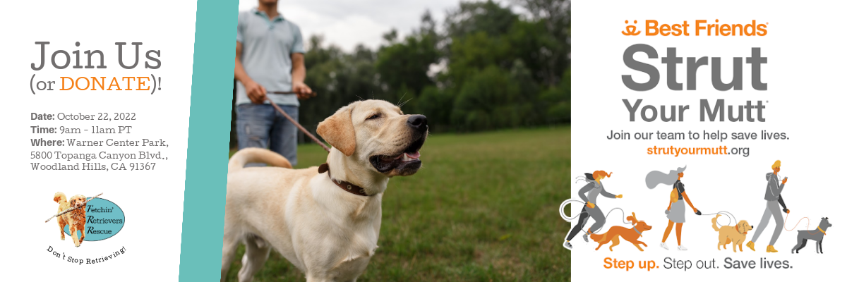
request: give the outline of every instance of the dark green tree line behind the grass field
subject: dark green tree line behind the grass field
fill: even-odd
[[[441,23],[425,11],[375,50],[312,36],[306,83],[318,96],[301,102],[300,122],[314,133],[338,108],[382,99],[426,115],[433,132],[569,123],[570,19],[567,0],[488,0],[459,3]]]

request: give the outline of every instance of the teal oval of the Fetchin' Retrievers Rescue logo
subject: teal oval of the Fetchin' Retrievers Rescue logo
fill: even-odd
[[[101,241],[111,238],[124,228],[124,210],[114,202],[94,198],[86,204],[86,239],[85,241]],[[80,231],[76,231],[81,236]],[[70,225],[64,226],[64,233],[70,235]]]

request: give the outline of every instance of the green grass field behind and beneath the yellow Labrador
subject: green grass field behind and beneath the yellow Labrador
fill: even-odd
[[[423,169],[390,180],[379,248],[358,281],[570,280],[569,224],[557,212],[570,196],[570,132],[430,135]],[[317,145],[298,152],[301,168],[326,159]],[[306,279],[272,252],[256,280]]]

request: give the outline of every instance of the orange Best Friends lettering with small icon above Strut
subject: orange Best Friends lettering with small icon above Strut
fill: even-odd
[[[644,22],[645,36],[691,36],[689,32],[688,20],[684,20],[682,24],[661,24],[656,19],[647,19]],[[624,30],[621,34],[624,36],[638,36],[641,30],[638,30],[638,20],[633,21],[633,25],[629,25],[629,20],[624,20]],[[756,24],[756,19],[753,19],[749,24],[721,24],[719,19],[715,19],[714,24],[708,24],[706,19],[695,20],[694,36],[767,36],[767,25]]]

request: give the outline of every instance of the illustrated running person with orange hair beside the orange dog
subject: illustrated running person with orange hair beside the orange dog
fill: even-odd
[[[603,180],[606,177],[612,177],[612,173],[606,174],[606,171],[597,170],[594,174],[585,174],[585,181],[588,182],[588,184],[583,186],[582,189],[579,189],[579,198],[585,202],[585,207],[583,207],[582,212],[579,212],[579,220],[577,224],[573,226],[571,232],[567,234],[567,238],[565,239],[564,246],[568,250],[573,249],[571,239],[573,239],[573,237],[582,230],[585,223],[588,222],[588,218],[594,218],[595,223],[591,225],[591,227],[589,227],[587,232],[583,235],[583,240],[586,242],[588,241],[588,236],[591,235],[591,230],[599,230],[603,227],[603,224],[606,224],[606,218],[604,218],[603,211],[601,211],[600,207],[597,206],[597,195],[618,199],[623,197],[623,195],[615,196],[603,188],[603,183],[601,183],[600,180]]]

